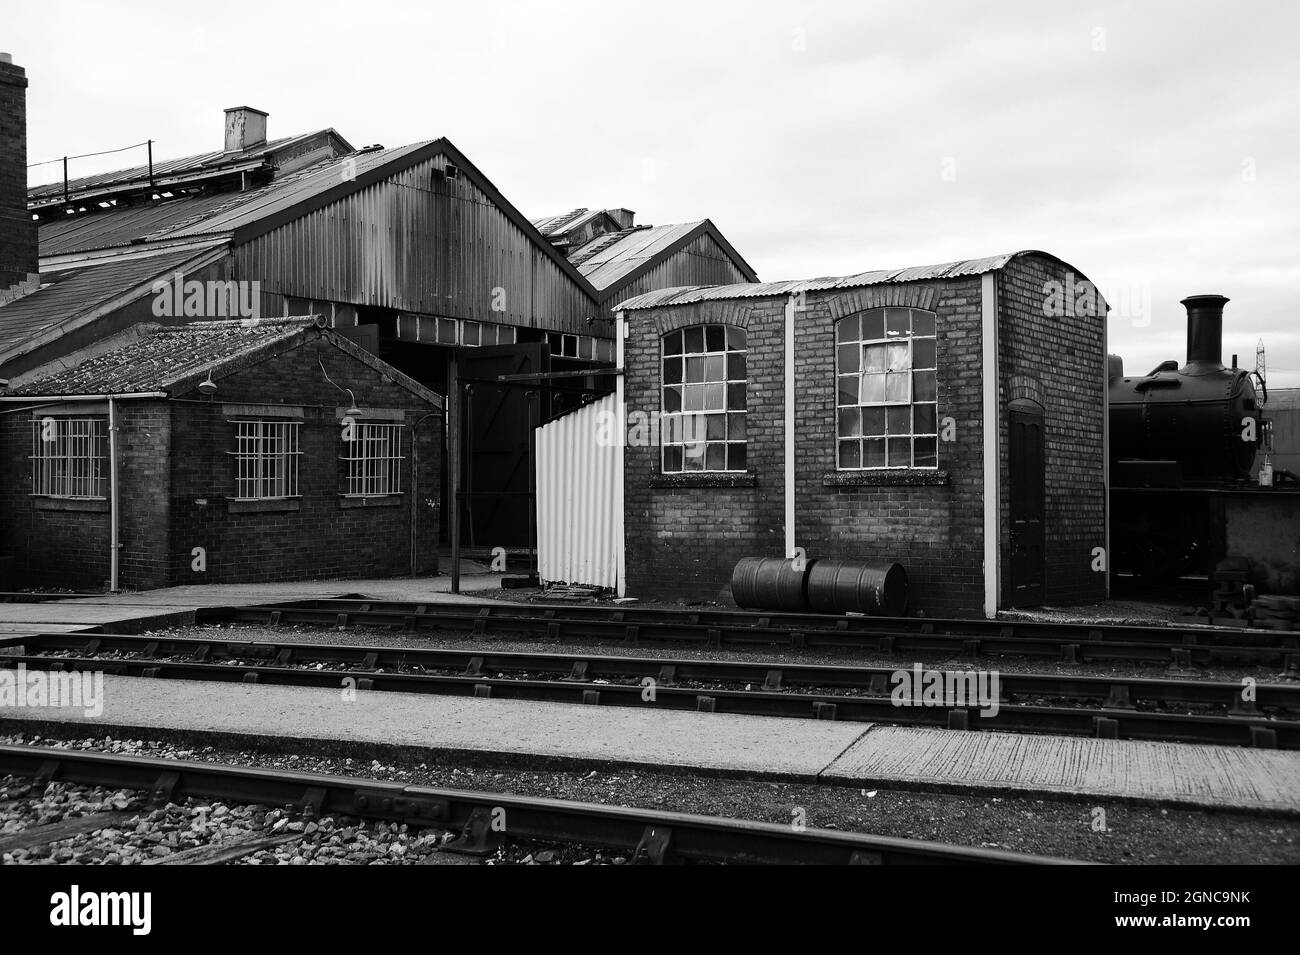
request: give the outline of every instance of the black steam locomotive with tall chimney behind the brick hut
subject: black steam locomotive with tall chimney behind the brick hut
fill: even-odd
[[[1187,361],[1127,377],[1108,356],[1112,569],[1144,578],[1210,573],[1225,556],[1228,495],[1258,494],[1254,461],[1268,433],[1268,391],[1223,365],[1222,295],[1192,295]],[[1286,473],[1279,477],[1286,478]],[[1290,495],[1288,495],[1290,496]],[[1295,499],[1290,499],[1295,507]]]

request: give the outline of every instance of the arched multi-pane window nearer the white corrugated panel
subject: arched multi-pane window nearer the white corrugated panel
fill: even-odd
[[[745,470],[745,329],[663,337],[663,472]]]

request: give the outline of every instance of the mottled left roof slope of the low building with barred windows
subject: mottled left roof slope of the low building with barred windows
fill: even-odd
[[[124,395],[170,391],[178,383],[217,374],[235,359],[317,327],[315,316],[138,326],[140,338],[95,355],[73,368],[38,378],[16,396]]]

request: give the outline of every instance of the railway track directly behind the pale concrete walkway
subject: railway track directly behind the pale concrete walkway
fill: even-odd
[[[897,668],[46,634],[0,665],[222,682],[1300,748],[1300,683],[1000,673],[989,700],[898,706]],[[933,670],[931,670],[933,672]],[[1176,712],[1188,708],[1216,712]],[[1283,719],[1279,719],[1283,717]],[[1290,717],[1290,719],[1286,719]]]

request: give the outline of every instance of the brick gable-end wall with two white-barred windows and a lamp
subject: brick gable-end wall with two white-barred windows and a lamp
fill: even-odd
[[[335,409],[348,396],[329,386],[329,377],[352,388],[363,409],[403,411],[402,495],[396,505],[378,499],[347,507],[341,498],[343,453]],[[198,392],[172,403],[172,534],[169,576],[173,583],[233,583],[324,577],[387,577],[411,573],[411,518],[419,526],[419,573],[437,569],[438,468],[442,447],[441,412],[404,387],[385,379],[338,348],[308,343],[230,378],[217,379],[212,401]],[[222,404],[268,403],[304,408],[299,430],[298,509],[238,511],[226,498],[235,492],[234,425]],[[420,421],[424,418],[422,421]],[[412,486],[412,427],[419,443],[417,500]],[[198,502],[207,502],[200,504]],[[194,548],[205,551],[207,569],[192,569]]]

